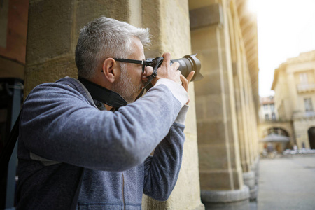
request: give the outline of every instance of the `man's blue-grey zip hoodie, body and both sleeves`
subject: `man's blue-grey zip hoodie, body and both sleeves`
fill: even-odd
[[[143,193],[167,200],[187,99],[181,85],[160,79],[137,102],[100,111],[76,79],[38,85],[22,107],[17,209],[70,209],[76,190],[77,209],[141,209]]]

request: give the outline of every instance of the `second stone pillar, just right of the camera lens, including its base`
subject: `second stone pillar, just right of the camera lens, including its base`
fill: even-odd
[[[194,3],[190,8],[192,48],[204,74],[195,83],[202,202],[206,209],[249,209],[239,155],[229,6],[225,0]]]

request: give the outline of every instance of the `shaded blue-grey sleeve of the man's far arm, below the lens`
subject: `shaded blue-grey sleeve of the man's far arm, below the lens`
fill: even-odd
[[[182,109],[180,115],[186,116],[186,111],[187,108]],[[155,200],[167,200],[175,187],[183,157],[184,128],[183,124],[174,123],[154,155],[144,162],[144,194]]]

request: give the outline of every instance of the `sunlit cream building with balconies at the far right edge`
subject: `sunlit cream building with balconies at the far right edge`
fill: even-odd
[[[291,121],[297,148],[315,148],[315,51],[287,59],[274,71],[279,119]]]

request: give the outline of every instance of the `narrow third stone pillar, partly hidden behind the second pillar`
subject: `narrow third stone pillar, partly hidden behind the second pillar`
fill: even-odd
[[[251,157],[250,157],[250,147],[249,141],[251,136],[248,130],[252,130],[252,127],[256,123],[252,123],[252,119],[255,113],[252,110],[249,115],[246,114],[246,97],[251,97],[251,92],[246,95],[246,83],[244,80],[248,78],[246,62],[246,53],[244,52],[244,43],[242,38],[239,36],[237,31],[240,29],[239,18],[237,18],[236,5],[230,3],[231,11],[228,13],[229,23],[230,23],[230,38],[231,38],[231,54],[232,54],[232,66],[233,66],[233,76],[235,83],[235,100],[237,109],[237,126],[239,134],[239,151],[241,154],[241,167],[243,171],[244,184],[248,186],[250,190],[250,199],[255,200],[257,197],[257,186],[255,184],[255,172],[252,171]],[[249,101],[251,101],[249,99]],[[251,122],[248,123],[248,117]],[[254,132],[252,132],[253,134]],[[257,132],[256,132],[257,133]]]

